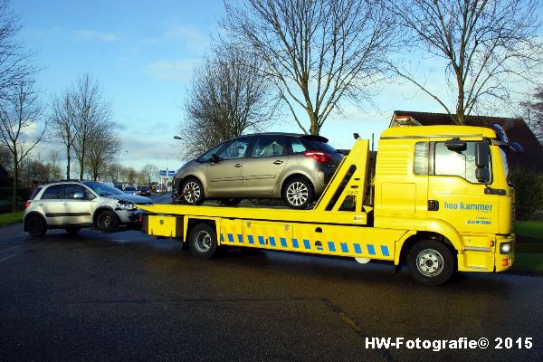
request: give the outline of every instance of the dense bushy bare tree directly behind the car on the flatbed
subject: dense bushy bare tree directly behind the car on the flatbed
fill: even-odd
[[[259,130],[272,117],[270,83],[249,52],[222,43],[195,68],[180,125],[185,156],[195,157],[225,139]]]

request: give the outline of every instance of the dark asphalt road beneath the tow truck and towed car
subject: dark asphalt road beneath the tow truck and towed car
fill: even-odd
[[[0,228],[0,360],[543,359],[541,277],[428,288],[382,264],[239,250],[199,261],[138,232],[34,240],[22,229]],[[405,346],[416,338],[490,347]]]

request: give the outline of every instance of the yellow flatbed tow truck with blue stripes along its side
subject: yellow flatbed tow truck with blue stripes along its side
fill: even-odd
[[[499,272],[514,260],[514,189],[503,129],[386,129],[376,157],[357,139],[312,209],[148,205],[150,235],[177,238],[198,258],[227,246],[406,263],[414,280]]]

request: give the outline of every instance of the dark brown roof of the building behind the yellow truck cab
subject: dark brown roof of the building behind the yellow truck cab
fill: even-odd
[[[414,112],[409,110],[395,110],[390,126],[399,126],[396,119],[410,118],[409,122],[419,123],[423,126],[452,125],[451,116],[446,113]],[[543,173],[543,145],[529,129],[523,119],[510,119],[504,117],[468,116],[467,126],[491,127],[498,123],[506,132],[511,141],[519,142],[524,152],[510,152],[508,161],[510,167],[522,167]]]

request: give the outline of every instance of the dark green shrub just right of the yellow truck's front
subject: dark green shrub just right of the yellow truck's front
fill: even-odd
[[[538,211],[543,211],[543,175],[524,168],[510,171],[510,180],[516,190],[516,217],[533,220]]]

